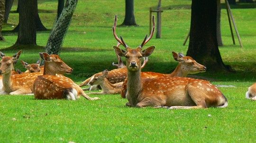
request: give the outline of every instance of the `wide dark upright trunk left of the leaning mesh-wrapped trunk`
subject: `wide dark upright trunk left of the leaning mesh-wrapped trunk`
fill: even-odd
[[[19,9],[19,30],[18,39],[15,45],[37,45],[37,33],[35,13],[37,11],[37,0],[18,0]]]

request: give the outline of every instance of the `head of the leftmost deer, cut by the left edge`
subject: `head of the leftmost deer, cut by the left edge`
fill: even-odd
[[[5,56],[4,53],[0,52],[0,75],[10,73],[14,69],[14,65],[17,63],[21,52],[22,50],[19,50],[12,57]]]

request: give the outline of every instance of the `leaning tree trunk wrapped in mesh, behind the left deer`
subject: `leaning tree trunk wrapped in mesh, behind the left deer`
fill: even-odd
[[[67,0],[60,17],[56,19],[46,44],[46,52],[48,54],[58,55],[60,53],[77,1],[78,0]]]

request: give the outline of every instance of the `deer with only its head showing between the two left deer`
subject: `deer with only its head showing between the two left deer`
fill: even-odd
[[[24,73],[34,73],[34,72],[44,71],[44,66],[40,66],[40,59],[37,60],[35,64],[28,64],[23,60],[20,60],[20,63],[23,65],[24,68],[27,68],[27,70]]]

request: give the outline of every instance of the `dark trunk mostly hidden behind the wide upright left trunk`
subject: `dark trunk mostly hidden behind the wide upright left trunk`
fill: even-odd
[[[38,8],[37,8],[37,0],[35,0],[36,2],[34,2],[34,6],[36,8],[36,10],[34,11],[34,17],[35,17],[35,23],[36,23],[36,29],[37,31],[43,31],[43,30],[47,30],[46,27],[42,24],[41,19],[38,15]],[[19,4],[18,4],[19,5]],[[22,8],[22,6],[19,6]],[[13,32],[18,32],[19,29],[19,23],[18,25],[12,30]]]

